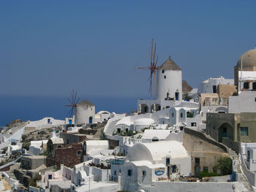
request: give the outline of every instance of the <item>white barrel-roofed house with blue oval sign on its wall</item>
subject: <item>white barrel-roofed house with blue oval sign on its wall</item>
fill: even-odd
[[[127,158],[121,166],[121,187],[127,191],[191,172],[191,158],[177,141],[137,143],[128,150]]]

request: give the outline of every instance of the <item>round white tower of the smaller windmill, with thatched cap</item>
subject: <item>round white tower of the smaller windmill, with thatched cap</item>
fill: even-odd
[[[84,99],[76,104],[75,107],[75,124],[94,123],[95,106],[90,101]]]

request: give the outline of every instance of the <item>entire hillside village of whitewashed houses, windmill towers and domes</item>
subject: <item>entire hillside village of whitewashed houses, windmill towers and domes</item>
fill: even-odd
[[[234,79],[191,88],[168,57],[155,99],[131,114],[84,99],[65,120],[14,120],[0,134],[0,191],[255,191],[256,49],[233,66]]]

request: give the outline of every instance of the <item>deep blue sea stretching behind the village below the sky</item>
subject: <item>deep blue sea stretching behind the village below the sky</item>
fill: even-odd
[[[137,110],[140,97],[83,96],[83,99],[91,101],[96,112],[129,113]],[[70,107],[64,107],[68,104],[67,97],[61,96],[0,96],[0,127],[14,119],[26,121],[52,117],[64,120],[69,117]]]

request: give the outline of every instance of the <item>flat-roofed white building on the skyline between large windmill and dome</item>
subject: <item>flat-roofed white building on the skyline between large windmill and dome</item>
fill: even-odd
[[[225,77],[208,78],[200,82],[197,93],[217,93],[218,85],[234,85],[233,79],[225,79]]]

